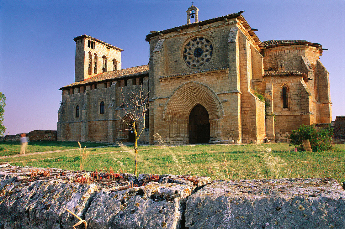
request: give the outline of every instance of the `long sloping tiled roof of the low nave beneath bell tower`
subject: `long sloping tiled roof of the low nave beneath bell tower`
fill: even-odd
[[[121,69],[111,72],[104,72],[98,75],[92,76],[84,81],[71,83],[67,86],[61,87],[59,90],[67,89],[73,86],[87,85],[95,82],[109,81],[109,80],[120,80],[128,79],[132,77],[138,77],[140,75],[146,75],[149,72],[149,65],[141,65],[136,67],[130,67],[128,69]]]

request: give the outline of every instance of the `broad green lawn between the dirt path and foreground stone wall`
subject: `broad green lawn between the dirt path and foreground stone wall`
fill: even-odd
[[[334,178],[339,183],[345,181],[345,145],[335,145],[333,150],[312,153],[296,153],[293,147],[283,143],[263,146],[272,147],[272,152],[262,153],[255,144],[186,145],[164,148],[156,145],[139,146],[138,172],[201,175],[210,176],[212,179],[327,177]],[[132,150],[132,146],[86,149],[87,157],[83,169],[100,170],[112,167],[114,171],[133,173]],[[1,159],[0,162],[17,166],[79,170],[80,152],[68,150],[50,154],[28,154]]]

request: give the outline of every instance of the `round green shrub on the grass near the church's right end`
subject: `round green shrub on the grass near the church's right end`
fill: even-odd
[[[291,144],[303,150],[302,140],[309,140],[313,151],[325,151],[332,148],[333,132],[331,128],[317,128],[315,125],[302,125],[292,131]]]

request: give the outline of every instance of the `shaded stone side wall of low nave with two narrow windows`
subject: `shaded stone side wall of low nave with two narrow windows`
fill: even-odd
[[[124,80],[121,80],[121,82]],[[86,91],[75,91],[74,93],[62,94],[62,104],[59,109],[58,136],[59,141],[76,140],[91,142],[116,142],[122,136],[123,128],[121,118],[124,114],[121,111],[122,93],[128,96],[132,91],[138,91],[139,87],[144,87],[144,94],[147,93],[147,77],[139,85],[139,78],[136,85],[132,85],[132,80],[127,80],[127,86],[118,82],[98,83],[97,88],[87,85]],[[122,90],[122,93],[121,93]],[[105,103],[104,114],[100,114],[100,103]],[[79,117],[75,117],[76,106],[79,106]],[[121,117],[121,118],[120,118]],[[140,126],[141,127],[141,126]],[[120,137],[121,141],[128,141],[127,137]],[[140,142],[147,142],[146,135],[143,134]]]

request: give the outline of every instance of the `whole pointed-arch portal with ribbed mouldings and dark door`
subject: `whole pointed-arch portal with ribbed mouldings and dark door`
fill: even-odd
[[[200,126],[207,124],[206,122],[196,123],[190,126],[189,119],[198,115],[207,119],[209,134],[206,136],[205,133],[204,137],[197,135],[189,138],[189,135],[193,135],[194,132],[199,134]],[[197,81],[189,81],[177,87],[169,96],[163,111],[163,120],[168,127],[169,139],[180,143],[193,141],[208,143],[220,138],[220,122],[223,116],[224,108],[216,92]],[[193,133],[189,132],[189,127],[192,128]],[[196,130],[193,131],[193,128]]]

